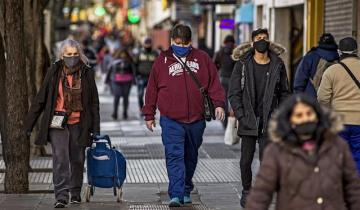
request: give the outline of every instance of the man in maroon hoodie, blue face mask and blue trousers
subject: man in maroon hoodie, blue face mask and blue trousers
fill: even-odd
[[[224,120],[225,117],[225,92],[215,64],[204,51],[191,46],[190,27],[176,25],[171,32],[171,47],[160,54],[152,67],[143,108],[150,131],[155,127],[156,108],[160,110],[161,136],[170,181],[170,207],[191,203],[192,177],[206,126],[203,96],[183,62],[208,91],[217,119]]]

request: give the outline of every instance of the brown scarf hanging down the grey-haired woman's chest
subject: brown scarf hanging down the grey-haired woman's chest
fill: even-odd
[[[63,95],[64,95],[64,109],[69,115],[71,112],[81,112],[83,110],[82,101],[81,101],[81,73],[82,73],[83,64],[79,63],[74,68],[67,68],[63,66],[63,71],[61,74],[61,80],[63,85]],[[72,87],[69,85],[67,76],[72,75]]]

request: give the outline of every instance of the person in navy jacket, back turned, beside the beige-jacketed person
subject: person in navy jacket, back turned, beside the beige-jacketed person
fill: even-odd
[[[294,92],[305,92],[316,98],[324,71],[339,59],[337,44],[330,33],[324,33],[317,47],[312,48],[301,60],[294,78]]]

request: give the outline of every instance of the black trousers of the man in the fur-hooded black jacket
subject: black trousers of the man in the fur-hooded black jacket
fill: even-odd
[[[243,190],[250,190],[252,182],[251,164],[254,159],[256,142],[259,143],[259,159],[262,160],[267,138],[264,135],[241,136],[240,172]]]

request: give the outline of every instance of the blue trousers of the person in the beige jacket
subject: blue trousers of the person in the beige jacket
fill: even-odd
[[[347,141],[360,174],[360,125],[345,125],[339,135]]]

